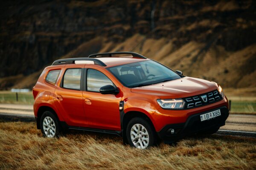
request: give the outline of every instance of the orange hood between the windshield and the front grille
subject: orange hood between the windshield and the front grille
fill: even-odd
[[[158,96],[160,99],[177,99],[204,94],[218,86],[204,79],[183,77],[169,82],[132,88],[131,92]]]

